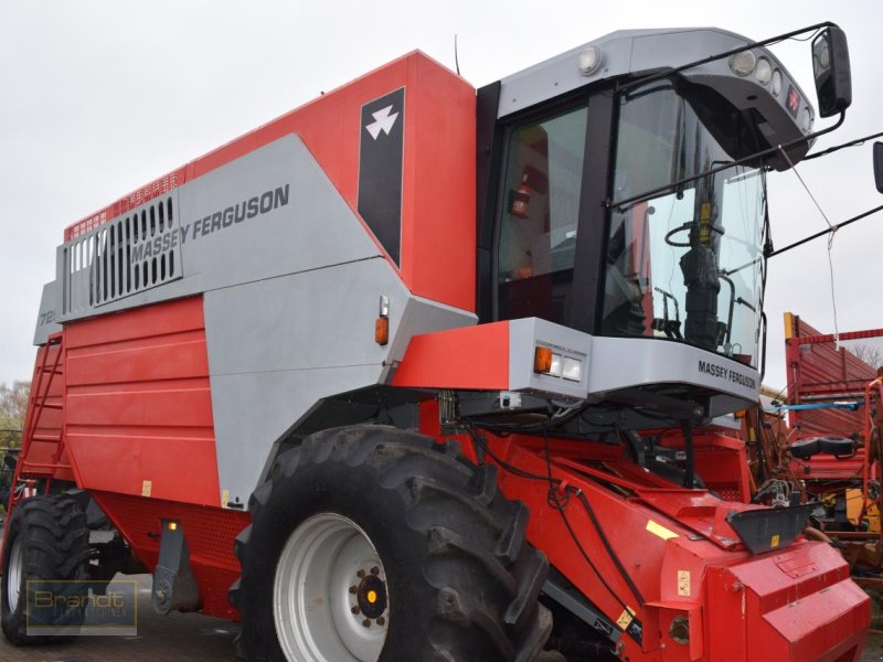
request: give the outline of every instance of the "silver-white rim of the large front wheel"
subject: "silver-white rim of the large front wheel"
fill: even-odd
[[[285,543],[273,585],[274,619],[288,660],[376,662],[390,627],[386,573],[352,520],[321,513]]]

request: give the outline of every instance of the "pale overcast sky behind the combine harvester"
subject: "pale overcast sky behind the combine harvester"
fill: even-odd
[[[876,0],[2,0],[0,382],[31,376],[41,289],[66,225],[408,51],[454,68],[458,34],[460,71],[480,86],[619,29],[715,25],[759,40],[830,20],[849,39],[853,106],[818,150],[883,130],[882,19]],[[775,53],[811,94],[809,45]],[[798,170],[831,223],[883,204],[870,145]],[[777,246],[826,227],[792,173],[770,177],[770,210]],[[882,248],[881,214],[833,242],[841,331],[883,327]],[[775,387],[786,310],[833,331],[826,241],[770,261]]]

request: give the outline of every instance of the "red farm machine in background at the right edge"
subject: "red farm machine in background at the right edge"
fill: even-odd
[[[873,340],[883,329],[825,334],[786,313],[785,334],[789,470],[820,504],[816,525],[843,551],[855,580],[880,604],[883,382],[881,366],[850,346],[880,355]]]

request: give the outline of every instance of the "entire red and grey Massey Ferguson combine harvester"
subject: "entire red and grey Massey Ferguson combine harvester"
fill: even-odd
[[[744,448],[693,434],[757,401],[765,174],[813,118],[715,29],[478,90],[412,53],[73,224],[7,638],[43,641],[29,579],[140,567],[249,660],[858,660],[842,557],[704,489]]]

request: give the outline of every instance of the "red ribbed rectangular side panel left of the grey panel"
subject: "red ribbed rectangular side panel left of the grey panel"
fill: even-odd
[[[202,299],[64,333],[66,438],[82,487],[220,505]]]

